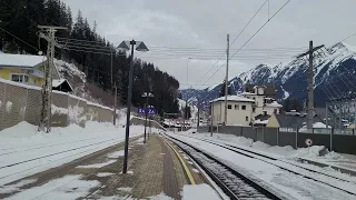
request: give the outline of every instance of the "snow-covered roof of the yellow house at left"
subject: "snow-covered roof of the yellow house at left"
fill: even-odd
[[[1,67],[32,68],[46,60],[43,56],[0,53]]]

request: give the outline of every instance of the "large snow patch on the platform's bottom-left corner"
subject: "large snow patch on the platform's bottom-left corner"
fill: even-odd
[[[9,197],[9,200],[38,199],[62,200],[78,199],[89,193],[91,188],[100,186],[97,180],[80,180],[81,176],[66,176],[51,180],[40,187],[30,188]]]

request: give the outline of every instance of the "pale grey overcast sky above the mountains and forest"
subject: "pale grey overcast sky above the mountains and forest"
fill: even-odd
[[[227,46],[226,34],[229,33],[233,41],[265,2],[265,0],[63,1],[71,7],[73,18],[80,9],[91,24],[96,20],[98,32],[110,42],[120,43],[130,39],[145,41],[151,51],[137,56],[155,62],[161,70],[176,77],[181,88],[187,88],[187,58],[192,58],[188,66],[189,86],[205,88],[206,86],[200,84],[222,81],[224,67],[211,79],[208,78],[225,63],[226,56],[206,77],[204,76],[217,62],[220,53],[224,53],[224,48]],[[264,6],[230,47],[230,56],[285,2],[287,0],[269,0],[269,6],[268,3]],[[273,56],[241,50],[241,54],[235,56],[230,61],[229,77],[235,77],[259,63],[277,64],[290,60],[298,50],[289,48],[307,48],[310,39],[315,46],[332,46],[355,33],[355,0],[291,0],[244,47],[244,49],[288,48],[288,50],[275,52]],[[356,37],[346,42],[356,46]],[[199,59],[196,59],[198,57]],[[201,57],[205,60],[201,60]],[[207,58],[211,60],[206,60]]]

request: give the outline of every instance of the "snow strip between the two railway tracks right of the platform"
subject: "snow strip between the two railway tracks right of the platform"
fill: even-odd
[[[281,192],[288,193],[296,199],[354,199],[353,196],[345,193],[338,189],[334,189],[324,183],[290,173],[275,164],[265,162],[264,160],[249,158],[222,147],[218,147],[198,139],[188,138],[185,134],[169,133],[169,136],[188,142],[208,153],[211,153],[212,156],[225,160],[229,166],[244,169],[250,174],[254,174],[255,177],[260,179],[260,181],[280,190]],[[313,173],[303,169],[294,170],[298,170],[300,174],[307,174],[308,177],[313,177],[319,181],[333,183],[333,186],[344,188],[347,191],[356,191],[355,181],[346,182],[323,174]]]

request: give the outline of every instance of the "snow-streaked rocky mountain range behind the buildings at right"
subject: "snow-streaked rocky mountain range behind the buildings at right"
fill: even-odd
[[[308,59],[299,58],[277,66],[259,64],[229,80],[233,91],[239,93],[244,86],[274,84],[279,101],[290,98],[304,101],[307,98]],[[344,42],[315,53],[315,103],[325,104],[328,98],[356,93],[356,47]],[[218,96],[221,84],[204,90],[182,90],[182,97],[201,99],[207,104]]]

